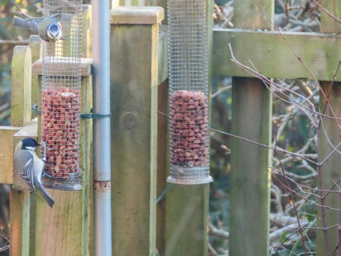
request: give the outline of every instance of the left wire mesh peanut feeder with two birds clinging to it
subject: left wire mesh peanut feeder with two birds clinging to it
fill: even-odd
[[[79,190],[82,1],[43,0],[43,16],[59,20],[63,37],[42,41],[42,181],[47,188]]]

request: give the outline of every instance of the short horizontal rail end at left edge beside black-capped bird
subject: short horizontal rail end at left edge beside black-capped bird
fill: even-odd
[[[13,135],[20,127],[0,126],[0,183],[13,183]]]

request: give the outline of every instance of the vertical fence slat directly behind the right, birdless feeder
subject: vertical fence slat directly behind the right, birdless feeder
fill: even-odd
[[[213,1],[207,0],[209,95],[211,92],[212,13]],[[166,256],[205,256],[208,254],[208,196],[209,184],[172,184],[166,194]]]

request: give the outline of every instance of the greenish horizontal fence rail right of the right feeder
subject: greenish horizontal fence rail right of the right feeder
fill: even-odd
[[[317,79],[333,79],[341,56],[341,35],[283,34]],[[312,79],[278,32],[234,29],[215,29],[213,32],[212,64],[215,75],[250,77],[230,60],[228,43],[231,43],[236,59],[252,68],[250,59],[265,77]],[[341,81],[341,72],[336,80]]]

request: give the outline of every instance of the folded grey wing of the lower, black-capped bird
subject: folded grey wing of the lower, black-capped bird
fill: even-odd
[[[22,177],[25,182],[33,190],[34,188],[34,178],[33,178],[33,157],[27,150],[20,150],[16,157],[16,169],[20,171],[20,177]]]

